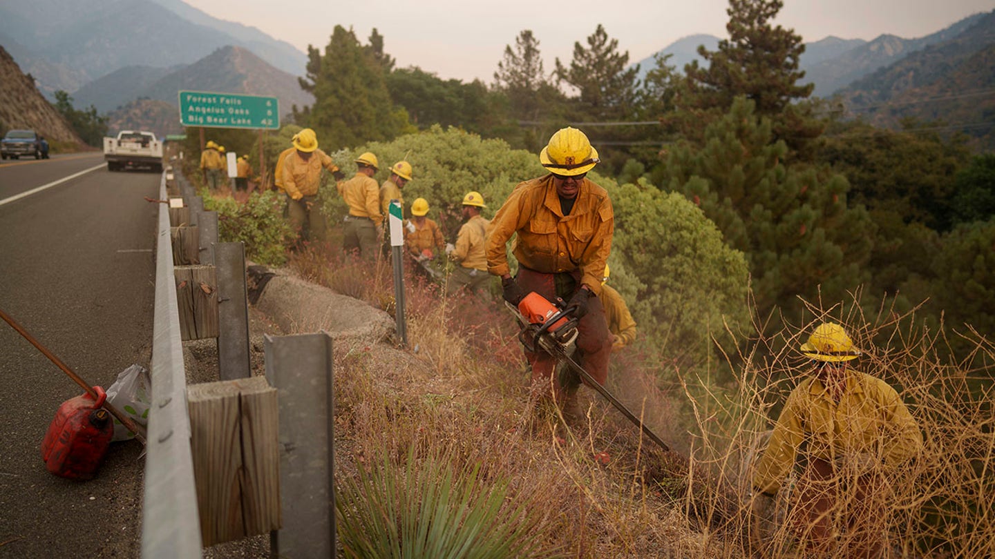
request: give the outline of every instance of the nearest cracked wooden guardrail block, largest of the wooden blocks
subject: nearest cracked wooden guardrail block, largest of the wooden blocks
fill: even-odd
[[[204,546],[281,527],[279,405],[265,377],[187,387]]]

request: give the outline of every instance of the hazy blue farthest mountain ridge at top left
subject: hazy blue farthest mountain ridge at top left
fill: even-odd
[[[226,45],[251,48],[288,74],[306,56],[259,30],[212,18],[180,0],[32,0],[0,5],[0,44],[42,93],[76,92],[128,66],[193,64]]]

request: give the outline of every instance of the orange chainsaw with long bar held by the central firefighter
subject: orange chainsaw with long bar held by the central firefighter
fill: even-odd
[[[651,441],[659,445],[664,452],[670,452],[671,448],[664,443],[663,439],[658,437],[642,420],[629,411],[625,404],[615,398],[611,392],[608,392],[608,389],[601,386],[590,373],[573,360],[571,353],[577,339],[578,320],[572,315],[571,309],[565,308],[561,300],[557,302],[559,302],[558,305],[533,291],[525,295],[517,307],[507,303],[521,327],[518,339],[522,345],[532,352],[545,351],[557,361],[565,363],[580,375],[585,384],[597,391],[612,406],[615,406],[615,409],[622,412],[626,419],[639,427]]]

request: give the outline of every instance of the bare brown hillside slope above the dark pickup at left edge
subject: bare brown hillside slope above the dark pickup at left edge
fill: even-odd
[[[50,140],[83,145],[83,140],[38,93],[34,81],[21,72],[3,47],[0,47],[0,84],[3,84],[0,88],[0,131],[34,128]]]

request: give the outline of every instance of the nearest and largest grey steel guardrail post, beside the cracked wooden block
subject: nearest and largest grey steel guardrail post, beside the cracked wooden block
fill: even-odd
[[[271,533],[270,553],[334,557],[331,336],[319,332],[263,339],[266,377],[279,391],[284,520],[284,527]]]

